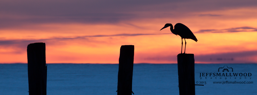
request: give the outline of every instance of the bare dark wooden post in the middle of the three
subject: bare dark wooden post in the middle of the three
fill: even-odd
[[[120,47],[117,95],[132,95],[134,45]],[[134,94],[134,93],[133,93]]]

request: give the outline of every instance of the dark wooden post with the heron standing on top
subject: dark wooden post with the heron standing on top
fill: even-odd
[[[179,95],[195,95],[194,54],[178,54]]]

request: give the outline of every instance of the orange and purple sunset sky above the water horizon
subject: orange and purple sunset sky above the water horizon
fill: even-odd
[[[176,63],[185,24],[195,63],[257,63],[256,0],[0,0],[0,63],[27,63],[27,45],[46,43],[47,63]],[[184,52],[184,45],[183,45]]]

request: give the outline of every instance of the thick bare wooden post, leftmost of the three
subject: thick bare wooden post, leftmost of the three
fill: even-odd
[[[27,46],[29,95],[47,94],[46,44]]]

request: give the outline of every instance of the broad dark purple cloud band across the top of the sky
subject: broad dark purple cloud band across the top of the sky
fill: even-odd
[[[256,0],[4,0],[0,1],[0,28],[44,23],[114,24],[131,19],[181,18],[192,16],[192,12],[255,6]]]

